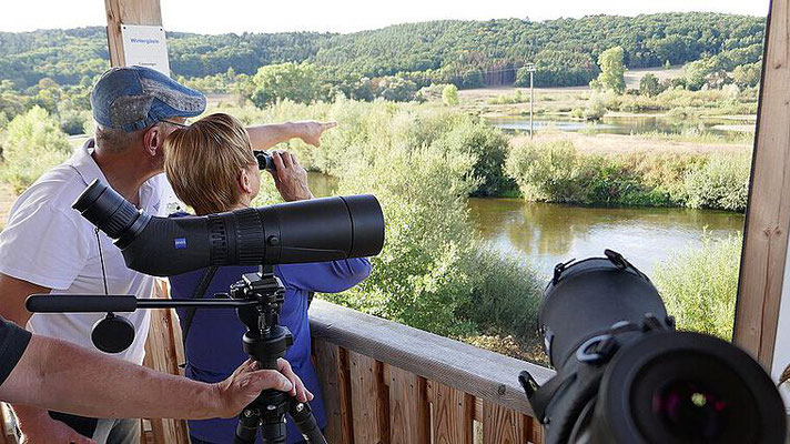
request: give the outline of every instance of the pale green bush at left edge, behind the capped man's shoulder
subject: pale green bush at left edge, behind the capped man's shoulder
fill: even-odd
[[[21,193],[41,174],[65,161],[72,149],[58,121],[34,107],[13,118],[3,142],[3,181]]]

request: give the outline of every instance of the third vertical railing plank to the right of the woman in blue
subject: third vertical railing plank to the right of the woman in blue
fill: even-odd
[[[389,385],[389,442],[428,444],[431,405],[425,379],[389,365],[384,374]]]

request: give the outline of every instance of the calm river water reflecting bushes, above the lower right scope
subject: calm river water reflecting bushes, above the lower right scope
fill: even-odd
[[[523,256],[548,273],[561,261],[617,250],[651,273],[671,253],[700,244],[702,233],[726,238],[743,215],[687,209],[605,209],[516,199],[472,199],[473,220],[496,249]]]

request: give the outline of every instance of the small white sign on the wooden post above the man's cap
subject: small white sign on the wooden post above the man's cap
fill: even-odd
[[[141,24],[121,24],[125,65],[133,64],[155,69],[170,77],[168,42],[164,28]]]

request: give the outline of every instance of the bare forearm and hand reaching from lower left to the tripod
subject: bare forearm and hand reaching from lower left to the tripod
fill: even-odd
[[[227,380],[205,384],[33,335],[0,385],[0,400],[93,417],[190,420],[232,417],[265,389],[312,400],[286,361],[280,370],[247,361]]]

